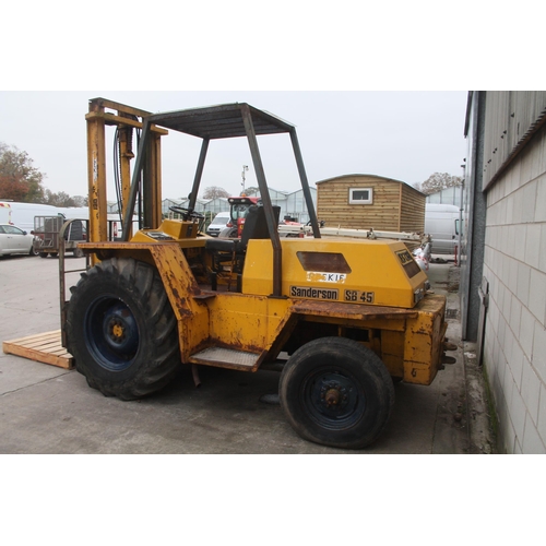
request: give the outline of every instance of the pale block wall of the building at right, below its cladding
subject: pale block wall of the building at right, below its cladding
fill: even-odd
[[[546,453],[546,131],[487,193],[484,363],[508,453]]]

